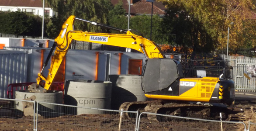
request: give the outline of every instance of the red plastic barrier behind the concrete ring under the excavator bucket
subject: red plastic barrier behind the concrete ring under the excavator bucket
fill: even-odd
[[[33,83],[13,83],[8,85],[7,98],[14,99],[15,90],[28,90],[28,86]],[[43,83],[44,84],[44,83]],[[64,82],[54,82],[52,90],[64,91]]]

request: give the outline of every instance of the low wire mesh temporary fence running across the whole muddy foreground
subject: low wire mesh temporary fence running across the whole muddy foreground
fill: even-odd
[[[30,109],[28,105],[31,106]],[[28,109],[25,110],[25,108]],[[83,113],[77,114],[77,110]],[[255,123],[250,121],[246,123],[249,123],[248,129],[244,122],[239,121],[215,121],[153,114],[149,112],[138,114],[138,111],[106,110],[39,101],[0,98],[0,131],[256,130]]]

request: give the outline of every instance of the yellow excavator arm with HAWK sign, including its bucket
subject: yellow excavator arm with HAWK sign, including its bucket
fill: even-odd
[[[85,21],[93,25],[125,32],[126,34],[106,34],[85,31],[74,31],[74,20]],[[52,49],[48,54],[47,60],[42,68],[42,71],[38,73],[37,83],[30,85],[28,90],[35,93],[46,93],[48,90],[51,89],[56,73],[58,72],[61,63],[69,50],[70,43],[73,40],[88,41],[103,45],[113,45],[118,47],[132,48],[137,50],[138,52],[144,53],[146,59],[164,57],[164,55],[161,54],[161,50],[156,45],[156,43],[142,36],[133,34],[131,31],[125,31],[104,24],[99,24],[96,22],[76,18],[75,16],[70,16],[62,25],[62,30],[60,31],[59,36],[55,38],[54,45],[52,46]],[[54,49],[55,52],[52,58],[52,63],[48,72],[48,76],[44,76],[42,72],[45,69],[45,66],[47,66]],[[44,87],[42,87],[43,81],[45,81]]]

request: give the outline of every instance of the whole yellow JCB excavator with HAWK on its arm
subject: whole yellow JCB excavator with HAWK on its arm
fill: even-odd
[[[123,34],[75,31],[73,28],[73,22],[75,20],[85,21],[103,28],[117,30],[123,32]],[[62,30],[60,31],[59,36],[55,38],[54,45],[48,54],[42,71],[38,73],[37,83],[30,85],[28,90],[35,93],[47,93],[48,90],[51,90],[56,73],[58,72],[60,64],[68,52],[70,43],[73,40],[132,48],[143,53],[146,58],[146,66],[142,75],[142,90],[144,90],[145,96],[148,98],[167,101],[174,100],[228,104],[234,101],[235,87],[232,80],[221,79],[219,77],[187,78],[184,75],[181,62],[179,60],[166,58],[164,53],[161,52],[160,48],[153,41],[133,34],[131,30],[121,30],[97,22],[83,20],[75,16],[70,16],[62,25]],[[48,60],[54,50],[55,52],[48,76],[44,76],[42,72],[45,69],[45,66],[47,66]],[[45,82],[44,86],[42,86],[43,81]],[[148,107],[149,104],[150,107],[153,107],[150,110],[154,113],[159,113],[158,111],[160,109],[174,110],[174,108],[170,108],[180,107],[173,104],[169,104],[170,106],[168,106],[168,104],[163,102],[152,103],[149,101],[127,102],[122,104],[120,108],[125,110],[138,110],[138,108],[133,109],[133,107],[144,105],[144,107],[140,108],[143,108],[143,111],[145,111],[145,107]],[[188,106],[183,107],[187,108]],[[198,108],[198,106],[194,107]]]

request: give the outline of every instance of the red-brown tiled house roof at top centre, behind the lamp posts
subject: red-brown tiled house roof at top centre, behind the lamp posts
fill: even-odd
[[[120,0],[111,0],[113,5],[119,3]],[[129,0],[121,0],[123,3],[123,8],[126,13],[129,11]],[[165,6],[163,3],[154,2],[153,3],[153,14],[164,14]],[[130,14],[151,14],[152,3],[146,2],[146,0],[131,0]]]

